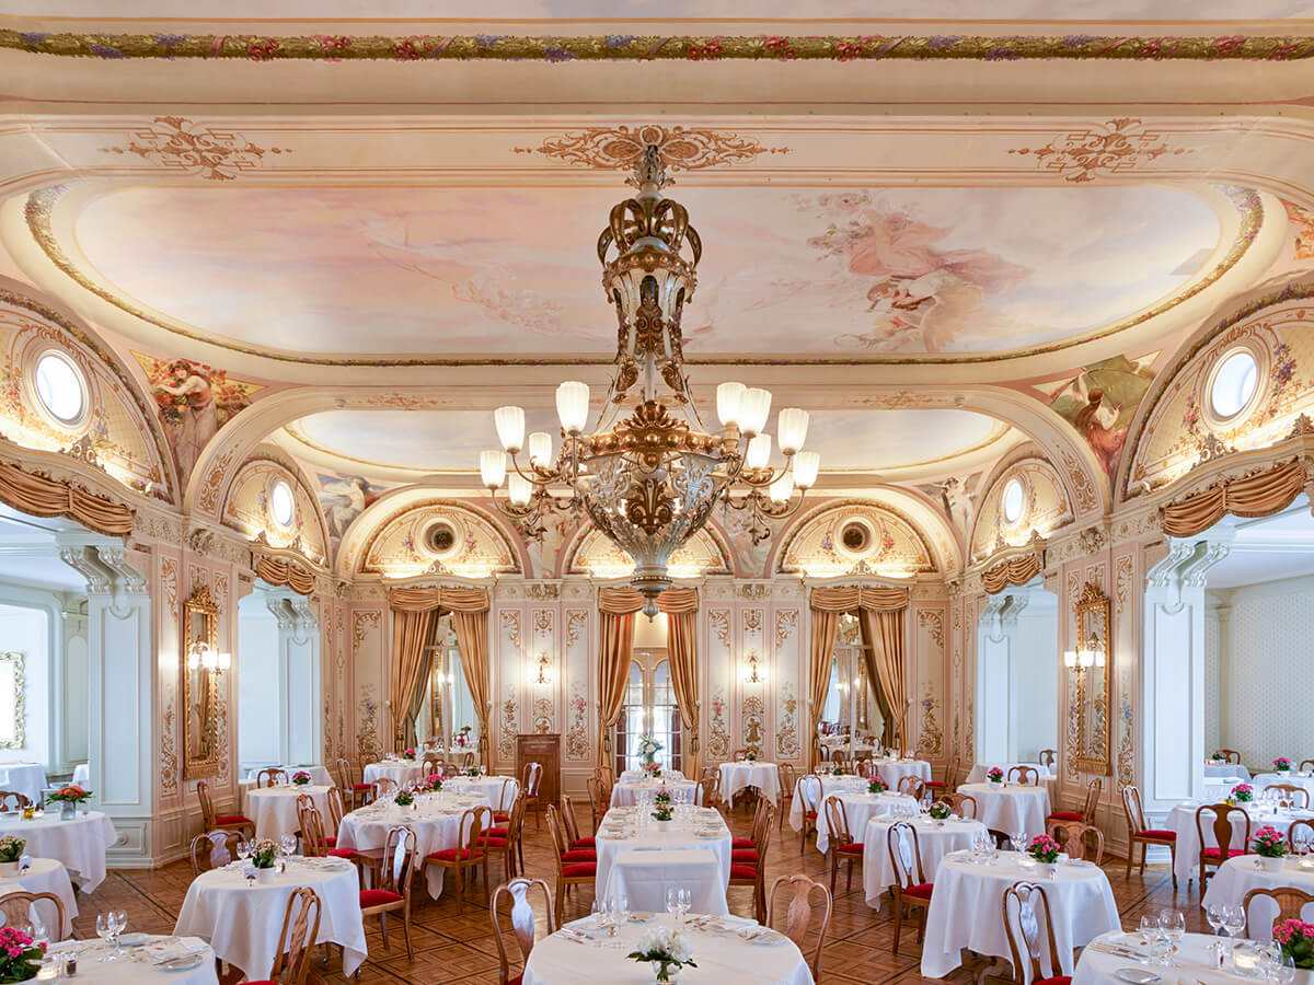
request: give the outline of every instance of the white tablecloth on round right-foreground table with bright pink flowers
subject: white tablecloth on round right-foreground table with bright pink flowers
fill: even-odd
[[[940,863],[921,951],[924,977],[942,978],[958,968],[964,947],[980,955],[1009,957],[1000,901],[1008,886],[1022,880],[1045,884],[1062,974],[1072,973],[1072,948],[1122,927],[1104,869],[1095,864],[1064,864],[1049,880],[1038,868],[1021,865],[1021,858],[1017,852],[1000,852],[993,864],[978,865],[964,856],[950,855]]]

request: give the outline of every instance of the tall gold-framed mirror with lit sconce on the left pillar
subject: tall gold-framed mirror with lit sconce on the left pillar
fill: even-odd
[[[219,772],[219,607],[202,584],[183,603],[179,678],[183,680],[183,779]]]

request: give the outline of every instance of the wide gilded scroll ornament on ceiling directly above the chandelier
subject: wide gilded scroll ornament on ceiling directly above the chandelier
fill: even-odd
[[[763,147],[752,137],[702,127],[658,126],[593,126],[587,130],[545,139],[537,147],[515,147],[516,154],[541,154],[568,164],[589,168],[631,168],[656,147],[666,167],[677,171],[700,171],[753,160],[759,154],[788,154],[788,147]],[[666,179],[666,184],[674,184]],[[695,261],[696,263],[696,261]]]

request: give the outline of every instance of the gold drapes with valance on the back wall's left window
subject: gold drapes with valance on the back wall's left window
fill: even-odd
[[[465,686],[480,720],[480,760],[490,770],[489,745],[489,595],[484,588],[447,588],[426,586],[394,588],[389,596],[393,609],[393,732],[414,739],[414,721],[401,718],[399,709],[409,709],[423,679],[424,647],[432,645],[439,617],[452,613],[456,645],[461,651]],[[403,619],[405,617],[405,619]]]

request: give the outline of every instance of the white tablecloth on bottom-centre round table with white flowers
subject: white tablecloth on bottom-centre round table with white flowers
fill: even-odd
[[[674,923],[658,915],[658,922]],[[754,926],[742,921],[744,926]],[[656,923],[627,923],[619,940],[606,946],[578,944],[553,934],[539,940],[524,964],[524,985],[650,985],[652,967],[625,957],[633,943]],[[698,968],[679,976],[682,982],[736,982],[736,985],[812,985],[803,952],[786,938],[779,944],[752,944],[733,934],[686,931]],[[616,947],[615,944],[620,944]]]

